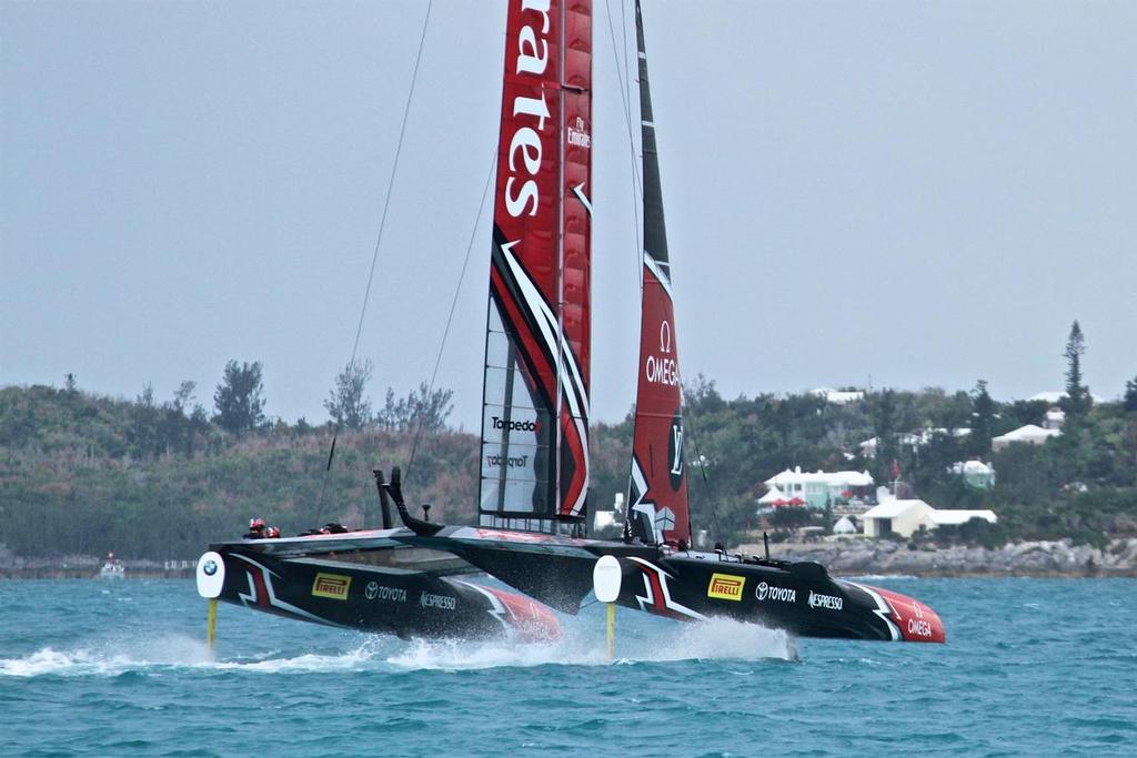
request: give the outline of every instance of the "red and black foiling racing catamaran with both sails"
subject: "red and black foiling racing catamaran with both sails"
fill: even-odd
[[[931,608],[820,564],[690,549],[678,341],[639,2],[640,370],[623,541],[583,538],[589,483],[591,2],[511,0],[493,211],[478,526],[416,518],[376,472],[382,530],[211,545],[202,595],[402,636],[559,634],[599,558],[617,603],[795,634],[943,642]],[[388,499],[405,524],[395,528]],[[524,593],[479,584],[484,570]]]

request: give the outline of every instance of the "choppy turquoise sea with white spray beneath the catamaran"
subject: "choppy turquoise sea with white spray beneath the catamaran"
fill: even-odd
[[[555,645],[402,642],[189,581],[0,582],[0,755],[1137,755],[1137,581],[874,583],[948,644],[794,640],[621,609]]]

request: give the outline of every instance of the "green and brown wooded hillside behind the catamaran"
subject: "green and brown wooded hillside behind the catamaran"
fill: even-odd
[[[696,377],[684,391],[692,522],[725,542],[747,539],[763,482],[800,466],[868,469],[878,483],[899,478],[905,494],[936,507],[999,515],[996,526],[955,535],[964,541],[1099,543],[1137,534],[1137,377],[1119,401],[1096,402],[1081,372],[1085,352],[1074,324],[1064,353],[1062,434],[998,451],[993,438],[1041,425],[1048,405],[1001,402],[982,380],[966,391],[882,389],[833,405],[808,393],[727,399],[713,381]],[[285,533],[325,520],[374,524],[371,469],[406,464],[416,438],[408,498],[431,502],[432,516],[472,520],[479,439],[448,428],[450,391],[425,383],[402,397],[388,390],[376,411],[366,393],[372,372],[366,361],[345,367],[325,401],[331,420],[319,425],[267,420],[256,361],[226,364],[211,413],[196,401],[191,382],[165,402],[149,386],[133,400],[98,397],[74,376],[63,389],[2,388],[0,544],[18,555],[185,558],[239,534],[254,515]],[[592,509],[628,490],[632,418],[592,426]],[[953,433],[958,428],[971,433]],[[920,443],[906,442],[908,435]],[[872,453],[861,445],[870,438]],[[953,472],[969,458],[995,466],[994,488],[974,489]]]

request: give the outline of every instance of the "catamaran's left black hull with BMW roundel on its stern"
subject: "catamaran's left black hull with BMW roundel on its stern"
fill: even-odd
[[[271,544],[274,542],[211,545],[200,563],[207,565],[213,559],[209,568],[222,573],[218,600],[298,620],[400,638],[529,642],[561,636],[559,623],[548,608],[471,581],[476,569],[468,566],[431,570],[391,565],[384,553],[408,552],[401,547],[348,553],[265,551],[266,547],[283,547]],[[388,565],[373,565],[367,558]]]

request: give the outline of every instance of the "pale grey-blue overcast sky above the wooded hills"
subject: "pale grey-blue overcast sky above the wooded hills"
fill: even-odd
[[[594,417],[632,402],[638,263],[596,0]],[[625,8],[629,6],[624,3]],[[211,407],[264,363],[323,420],[425,2],[0,3],[0,385]],[[1137,3],[646,2],[681,365],[728,395],[1137,375]],[[478,424],[503,1],[435,0],[360,357]],[[619,53],[623,65],[623,51]]]

